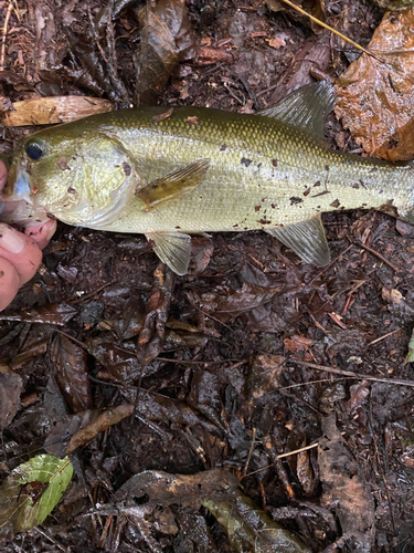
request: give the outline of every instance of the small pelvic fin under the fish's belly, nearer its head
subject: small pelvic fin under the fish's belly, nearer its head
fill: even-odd
[[[191,253],[191,237],[180,232],[149,232],[147,240],[151,240],[153,251],[177,274],[185,274],[189,270]]]

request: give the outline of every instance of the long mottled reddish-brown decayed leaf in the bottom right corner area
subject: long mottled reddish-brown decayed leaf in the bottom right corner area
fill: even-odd
[[[333,507],[342,529],[341,542],[354,551],[373,546],[374,502],[364,476],[343,442],[335,415],[322,420],[318,460],[322,504]]]

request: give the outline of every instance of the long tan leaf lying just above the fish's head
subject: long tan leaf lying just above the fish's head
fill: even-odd
[[[114,103],[87,96],[52,96],[14,102],[13,111],[4,116],[8,127],[51,125],[82,119],[96,113],[112,112]]]

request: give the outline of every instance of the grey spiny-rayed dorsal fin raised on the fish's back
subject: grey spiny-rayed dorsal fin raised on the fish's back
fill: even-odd
[[[321,81],[291,92],[275,106],[257,112],[257,115],[276,118],[323,138],[325,121],[333,109],[336,97],[335,86]]]

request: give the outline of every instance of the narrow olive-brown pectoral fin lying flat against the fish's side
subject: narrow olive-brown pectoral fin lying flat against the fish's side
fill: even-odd
[[[161,202],[176,199],[198,186],[205,177],[209,165],[210,159],[198,159],[152,180],[135,194],[146,204],[149,211]]]

